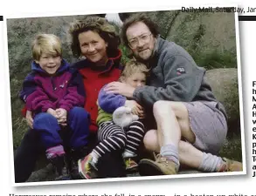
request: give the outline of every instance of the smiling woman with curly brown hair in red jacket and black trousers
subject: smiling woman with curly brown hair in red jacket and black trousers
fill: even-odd
[[[114,26],[101,17],[87,17],[84,21],[76,21],[71,25],[69,33],[72,37],[73,55],[86,58],[73,64],[73,67],[80,71],[83,78],[86,90],[84,107],[90,113],[92,133],[90,142],[94,145],[96,135],[94,133],[98,130],[96,125],[98,93],[104,84],[117,80],[121,74],[121,51],[118,49],[120,37],[115,32]],[[31,126],[33,122],[31,112],[26,112],[26,120]],[[89,149],[77,152],[73,156],[74,165],[77,159],[89,152]],[[16,182],[23,182],[29,178],[39,150],[37,134],[32,131],[27,132],[15,155]],[[73,171],[77,171],[75,167],[73,166]],[[122,166],[121,153],[106,154],[99,160],[99,178],[122,176],[125,176],[125,170]]]

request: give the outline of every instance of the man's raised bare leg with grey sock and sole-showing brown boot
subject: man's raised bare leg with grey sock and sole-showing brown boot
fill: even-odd
[[[178,143],[182,134],[176,113],[167,101],[157,101],[153,106],[153,113],[156,118],[160,155],[157,156],[156,162],[142,159],[140,172],[142,175],[147,172],[151,175],[176,174],[180,166]]]

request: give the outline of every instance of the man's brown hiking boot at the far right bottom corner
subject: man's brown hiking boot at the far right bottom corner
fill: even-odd
[[[243,171],[243,164],[236,160],[223,158],[224,164],[220,167],[218,172],[241,172]]]

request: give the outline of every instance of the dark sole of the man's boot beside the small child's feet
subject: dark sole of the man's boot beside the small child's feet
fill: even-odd
[[[162,170],[154,164],[146,159],[142,159],[139,163],[139,172],[141,176],[160,176],[164,175]]]

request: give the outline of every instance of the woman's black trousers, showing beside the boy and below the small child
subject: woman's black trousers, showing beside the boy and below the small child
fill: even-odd
[[[96,134],[90,136],[89,146],[96,144]],[[38,156],[45,154],[45,149],[40,143],[38,132],[29,130],[18,146],[14,155],[15,182],[25,182],[34,171]],[[126,177],[125,167],[121,152],[106,153],[99,159],[98,175],[100,179]]]

